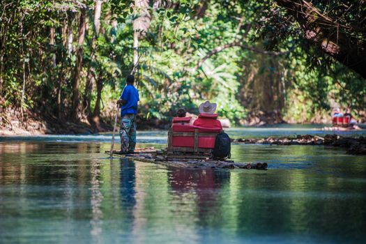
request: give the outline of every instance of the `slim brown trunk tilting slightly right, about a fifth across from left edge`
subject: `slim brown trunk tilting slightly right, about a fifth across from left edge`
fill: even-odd
[[[79,109],[79,83],[80,83],[80,76],[82,73],[82,61],[83,61],[82,57],[83,57],[83,45],[85,37],[85,16],[86,16],[86,9],[83,8],[79,17],[79,34],[76,50],[76,66],[75,66],[75,74],[73,77],[73,97],[71,99],[72,106],[70,112],[70,119],[73,119],[74,121],[77,120],[78,109]]]

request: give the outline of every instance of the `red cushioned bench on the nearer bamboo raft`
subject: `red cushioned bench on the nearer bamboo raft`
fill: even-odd
[[[206,128],[188,124],[190,118],[174,118],[168,131],[167,153],[211,153],[222,128]]]

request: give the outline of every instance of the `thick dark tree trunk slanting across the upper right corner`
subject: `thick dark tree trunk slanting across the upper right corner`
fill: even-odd
[[[366,79],[366,43],[305,0],[275,0],[300,24],[305,39]],[[358,40],[359,39],[359,40]]]

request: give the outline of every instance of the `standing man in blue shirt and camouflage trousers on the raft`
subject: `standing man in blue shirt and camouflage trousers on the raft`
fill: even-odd
[[[139,91],[133,86],[135,77],[128,75],[126,86],[117,104],[121,106],[121,152],[133,153],[136,146],[136,114],[139,102]]]

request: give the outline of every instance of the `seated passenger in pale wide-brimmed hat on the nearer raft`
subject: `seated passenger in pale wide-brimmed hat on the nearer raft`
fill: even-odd
[[[218,121],[218,114],[214,114],[216,110],[216,104],[211,102],[203,102],[199,105],[199,116],[195,120],[193,125],[206,127],[206,128],[220,128],[222,130],[222,125]]]

